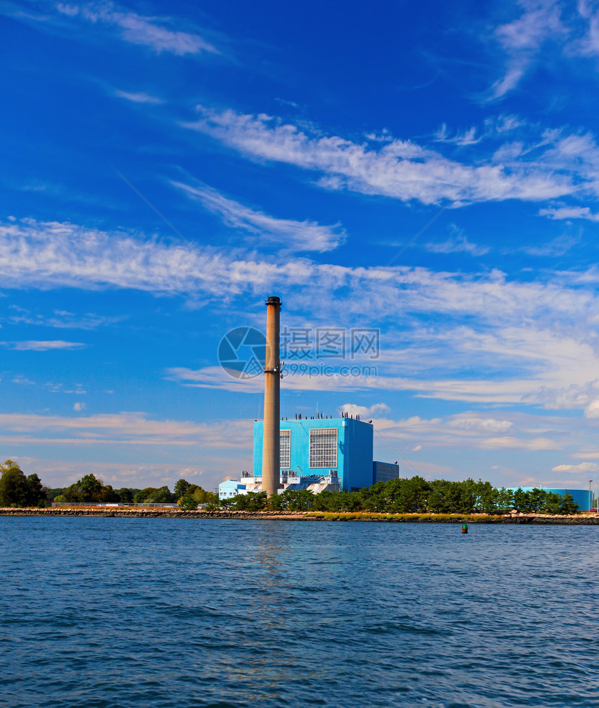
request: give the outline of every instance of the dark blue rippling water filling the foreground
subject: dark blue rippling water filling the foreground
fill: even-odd
[[[599,707],[599,527],[0,517],[0,705]]]

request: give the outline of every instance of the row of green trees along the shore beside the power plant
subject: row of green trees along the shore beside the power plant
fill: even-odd
[[[85,474],[68,487],[50,489],[37,474],[25,476],[11,459],[0,464],[0,506],[50,506],[57,502],[135,502],[178,503],[182,509],[207,508],[258,511],[368,511],[382,513],[488,513],[501,514],[512,509],[530,513],[571,514],[578,504],[571,494],[562,496],[544,489],[498,489],[488,481],[428,481],[421,476],[377,482],[360,491],[321,491],[286,489],[267,500],[266,492],[250,492],[220,499],[214,492],[178,479],[174,490],[168,486],[113,489],[93,474]]]

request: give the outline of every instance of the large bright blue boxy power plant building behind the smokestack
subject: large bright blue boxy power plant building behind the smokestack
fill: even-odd
[[[253,476],[262,475],[263,422],[253,424]],[[280,421],[280,469],[297,476],[338,477],[343,491],[372,484],[372,423],[356,418]]]

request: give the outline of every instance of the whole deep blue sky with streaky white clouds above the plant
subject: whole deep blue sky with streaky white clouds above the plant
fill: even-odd
[[[380,331],[287,356],[284,416],[359,411],[402,474],[599,479],[598,4],[0,8],[0,457],[237,476],[262,382],[217,350],[279,295],[312,344]]]

